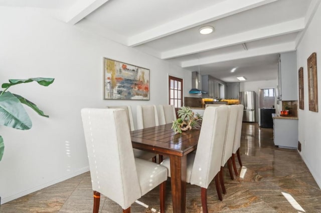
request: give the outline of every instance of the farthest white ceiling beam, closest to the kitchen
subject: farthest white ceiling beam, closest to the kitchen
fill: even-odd
[[[194,59],[194,60],[186,60],[186,61],[182,61],[181,66],[185,68],[190,66],[218,63],[222,61],[236,60],[236,59],[242,59],[247,57],[254,57],[259,55],[267,55],[267,54],[274,54],[274,53],[294,51],[294,50],[295,50],[295,42],[291,41],[291,42],[274,44],[274,45],[269,45],[269,46],[264,46],[259,48],[252,48],[246,51],[242,50],[242,51],[237,51],[233,53],[203,57],[203,58]]]

